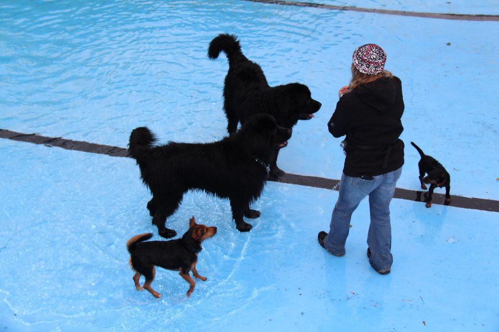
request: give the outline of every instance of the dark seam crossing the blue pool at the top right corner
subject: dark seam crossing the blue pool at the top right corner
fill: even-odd
[[[376,14],[399,15],[399,16],[441,18],[441,19],[464,20],[464,21],[499,21],[499,15],[450,14],[450,13],[444,14],[444,13],[416,12],[416,11],[403,11],[403,10],[371,9],[371,8],[360,8],[352,6],[336,6],[332,4],[282,1],[282,0],[243,0],[243,1],[261,2],[267,4],[280,4],[288,6],[299,6],[299,7],[312,7],[312,8],[321,8],[321,9],[372,12]]]

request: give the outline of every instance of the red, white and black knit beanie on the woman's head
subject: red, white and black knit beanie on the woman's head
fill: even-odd
[[[365,44],[357,47],[353,52],[352,60],[359,72],[376,75],[385,68],[386,53],[376,44]]]

